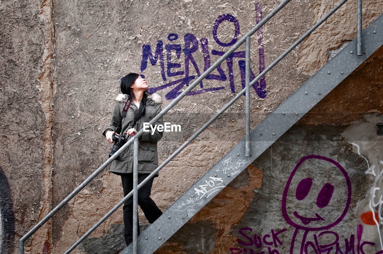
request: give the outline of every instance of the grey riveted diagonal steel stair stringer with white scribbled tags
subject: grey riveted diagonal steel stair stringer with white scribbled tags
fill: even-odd
[[[331,61],[268,115],[250,133],[251,156],[245,156],[244,139],[178,198],[153,224],[141,232],[138,253],[152,254],[202,207],[258,158],[304,114],[383,45],[383,15],[363,31],[362,56],[355,38]],[[132,253],[132,244],[121,254]]]

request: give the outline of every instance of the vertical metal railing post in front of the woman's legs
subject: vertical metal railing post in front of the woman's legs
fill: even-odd
[[[133,254],[137,254],[138,233],[138,138],[134,139],[133,145]]]

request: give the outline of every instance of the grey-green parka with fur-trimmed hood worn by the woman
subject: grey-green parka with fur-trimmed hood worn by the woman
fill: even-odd
[[[126,113],[126,117],[121,116],[122,109],[127,101],[128,96],[126,94],[118,94],[116,97],[116,105],[113,111],[111,125],[103,131],[104,137],[107,130],[115,131],[115,128],[121,122],[121,133],[125,133],[128,129],[135,128],[137,131],[141,130],[144,126],[144,122],[150,122],[161,112],[161,103],[162,98],[158,94],[152,94],[148,96],[145,107],[145,115],[141,117],[136,123],[136,126],[133,126],[134,116],[137,114],[137,107],[132,102]],[[155,124],[164,125],[162,117],[157,120]],[[150,129],[150,128],[149,128]],[[118,133],[120,134],[120,133]],[[158,167],[158,154],[157,154],[157,141],[162,138],[163,132],[155,130],[152,134],[152,130],[149,132],[144,132],[139,138],[139,148],[138,148],[138,173],[139,174],[150,174]],[[130,137],[129,137],[130,139]],[[126,150],[124,150],[111,164],[110,171],[115,174],[121,173],[131,173],[133,172],[133,144],[130,145]],[[158,176],[158,174],[157,174]]]

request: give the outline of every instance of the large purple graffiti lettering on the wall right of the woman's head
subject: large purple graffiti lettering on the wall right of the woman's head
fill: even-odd
[[[256,3],[255,4],[255,18],[257,24],[262,20],[262,4],[261,3]],[[224,21],[231,22],[234,25],[235,28],[235,34],[232,40],[228,43],[224,43],[219,41],[217,31],[219,28],[219,25],[223,23]],[[224,46],[224,47],[229,47],[232,46],[234,43],[236,43],[238,36],[240,33],[240,27],[239,27],[239,22],[238,20],[230,15],[230,14],[223,14],[218,16],[214,23],[213,27],[213,38],[214,41],[219,45],[219,46]],[[257,31],[258,35],[258,46],[259,46],[259,72],[263,72],[265,69],[265,53],[264,53],[264,47],[262,46],[262,40],[263,40],[263,31],[262,28],[260,28]],[[178,39],[178,34],[175,33],[170,33],[167,36],[167,39],[169,42],[175,42]],[[183,36],[183,42],[184,42],[184,48],[182,49],[181,44],[165,44],[162,41],[157,42],[157,46],[155,48],[155,52],[152,52],[152,47],[150,45],[144,44],[142,46],[142,60],[141,60],[141,72],[147,69],[147,63],[150,61],[151,65],[156,65],[158,62],[160,62],[160,68],[161,68],[161,75],[162,79],[164,81],[167,80],[167,77],[180,77],[183,76],[182,78],[179,78],[178,80],[171,81],[169,83],[166,83],[164,85],[160,85],[157,87],[151,87],[149,88],[149,93],[154,93],[155,91],[159,91],[171,86],[173,89],[169,91],[166,95],[166,99],[174,99],[177,97],[181,92],[184,86],[188,86],[191,81],[193,81],[196,77],[199,77],[201,75],[201,70],[198,66],[198,62],[196,62],[196,56],[199,53],[199,47],[201,47],[201,51],[203,54],[203,59],[204,59],[204,66],[203,66],[203,71],[206,71],[208,68],[211,66],[211,56],[217,56],[220,57],[222,56],[225,52],[224,51],[218,51],[214,49],[209,49],[209,41],[207,38],[201,38],[200,41],[197,40],[196,36],[193,34],[185,34]],[[164,52],[165,50],[165,52]],[[173,55],[172,59],[172,53],[174,54],[175,52],[175,57]],[[181,52],[183,52],[183,64],[180,63],[180,58],[181,58]],[[165,64],[164,64],[164,53],[166,54],[166,71],[165,71]],[[241,73],[241,84],[242,84],[242,89],[245,87],[245,52],[244,51],[236,51],[233,52],[227,59],[226,59],[226,65],[228,68],[228,73],[225,73],[225,71],[222,68],[222,64],[220,64],[216,68],[217,73],[210,73],[207,77],[206,80],[218,80],[218,81],[226,81],[229,80],[229,85],[230,85],[230,91],[231,93],[236,93],[236,88],[234,86],[234,74],[233,74],[233,69],[234,68],[239,68],[240,73]],[[178,60],[178,62],[177,62]],[[237,61],[238,65],[236,62]],[[184,66],[182,66],[184,65]],[[183,68],[182,68],[183,67]],[[190,75],[190,72],[194,72],[196,75]],[[254,79],[255,75],[252,70],[250,70],[250,78]],[[167,77],[166,77],[167,76]],[[187,95],[194,95],[194,94],[200,94],[200,93],[206,93],[206,92],[211,92],[211,91],[218,91],[224,89],[224,86],[217,86],[217,87],[211,87],[211,88],[204,88],[203,87],[203,81],[200,82],[200,89],[196,91],[190,91]],[[265,77],[262,77],[259,81],[255,82],[253,85],[253,88],[257,95],[260,98],[265,98],[266,96],[266,82],[265,82]],[[245,95],[245,94],[244,94]]]

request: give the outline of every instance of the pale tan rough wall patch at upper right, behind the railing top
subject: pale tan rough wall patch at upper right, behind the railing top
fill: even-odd
[[[313,15],[313,26],[339,1],[311,2],[308,11]],[[336,49],[342,42],[353,40],[357,36],[357,0],[347,1],[334,15],[327,19],[316,31],[302,42],[297,60],[297,68],[302,73],[313,75],[327,60],[327,51]],[[382,1],[363,1],[363,29],[383,13]]]

